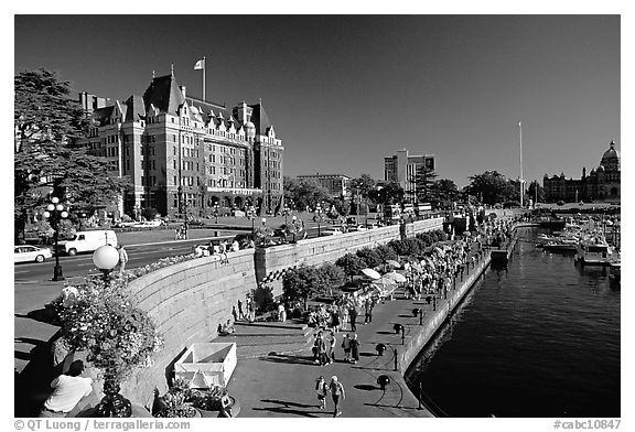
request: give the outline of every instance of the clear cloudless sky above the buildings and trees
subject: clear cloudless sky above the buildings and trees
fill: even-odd
[[[227,6],[227,4],[226,4]],[[111,12],[111,11],[110,11]],[[618,15],[15,15],[14,72],[112,100],[171,64],[201,97],[262,102],[284,174],[384,176],[399,149],[458,185],[580,177],[620,134]]]

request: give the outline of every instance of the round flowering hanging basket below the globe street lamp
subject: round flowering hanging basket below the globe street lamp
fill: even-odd
[[[67,346],[87,350],[86,359],[118,382],[134,368],[149,367],[163,341],[148,313],[133,304],[126,282],[89,280],[76,289],[73,301],[54,304]]]

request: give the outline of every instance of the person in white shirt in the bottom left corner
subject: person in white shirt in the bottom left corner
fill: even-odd
[[[84,361],[75,360],[68,371],[51,382],[53,393],[44,402],[40,417],[66,417],[82,398],[93,391],[93,379],[82,377]]]

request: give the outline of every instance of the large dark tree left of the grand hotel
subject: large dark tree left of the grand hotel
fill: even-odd
[[[114,203],[128,182],[109,177],[106,159],[77,144],[89,121],[71,99],[69,84],[41,68],[18,74],[14,91],[17,236],[31,212],[43,210],[49,193],[73,207]]]

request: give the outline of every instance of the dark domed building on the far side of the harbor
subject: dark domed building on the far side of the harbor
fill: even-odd
[[[558,201],[592,202],[621,201],[621,168],[620,153],[615,150],[615,142],[611,141],[609,150],[602,155],[600,166],[592,169],[586,175],[586,169],[582,169],[582,179],[566,179],[564,173],[560,176],[549,177],[547,174],[542,177],[542,187],[545,188],[545,199],[548,203]]]

